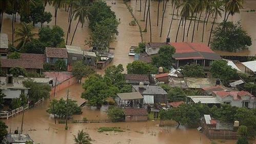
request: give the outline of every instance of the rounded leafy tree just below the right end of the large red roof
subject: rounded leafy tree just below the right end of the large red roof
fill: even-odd
[[[210,72],[213,77],[220,78],[227,85],[227,80],[237,78],[237,70],[227,65],[226,60],[215,60],[211,65]]]

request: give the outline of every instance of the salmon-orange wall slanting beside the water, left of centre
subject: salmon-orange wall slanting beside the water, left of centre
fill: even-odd
[[[78,81],[77,81],[77,78],[76,77],[71,77],[65,81],[63,81],[62,83],[56,85],[56,91],[55,92],[58,92],[58,91],[61,91],[73,84],[76,84]],[[54,86],[52,87],[51,91],[50,91],[50,95],[53,95],[54,94]]]

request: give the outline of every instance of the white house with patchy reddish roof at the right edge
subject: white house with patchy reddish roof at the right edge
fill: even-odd
[[[256,108],[255,97],[247,91],[213,91],[212,95],[216,96],[222,104],[230,104],[240,108]]]

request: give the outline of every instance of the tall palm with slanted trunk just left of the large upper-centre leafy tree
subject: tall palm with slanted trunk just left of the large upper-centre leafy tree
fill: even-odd
[[[78,22],[76,24],[76,27],[75,27],[75,30],[74,30],[74,34],[72,36],[72,40],[71,40],[71,43],[70,45],[72,45],[72,42],[73,42],[73,39],[74,39],[74,35],[75,35],[75,32],[76,32],[76,29],[77,29],[77,26],[79,23],[81,23],[82,25],[85,23],[85,18],[87,18],[87,14],[88,14],[88,1],[78,1],[77,2],[78,4],[78,8],[74,10],[74,20],[76,20],[78,18]]]

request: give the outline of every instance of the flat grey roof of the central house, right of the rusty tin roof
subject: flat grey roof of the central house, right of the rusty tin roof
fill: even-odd
[[[139,89],[139,86],[132,86],[133,89],[139,91],[141,94],[167,94],[167,92],[159,86],[144,86],[144,89]]]

